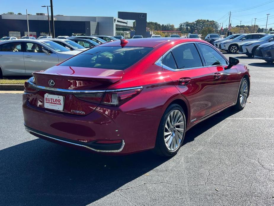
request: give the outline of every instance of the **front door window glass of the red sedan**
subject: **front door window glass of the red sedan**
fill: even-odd
[[[207,66],[226,65],[227,61],[214,48],[205,44],[199,44]]]

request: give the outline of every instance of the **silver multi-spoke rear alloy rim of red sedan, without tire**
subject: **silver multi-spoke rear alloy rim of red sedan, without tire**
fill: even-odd
[[[185,120],[179,110],[173,110],[167,117],[164,128],[164,141],[169,151],[177,150],[182,142],[185,130]]]

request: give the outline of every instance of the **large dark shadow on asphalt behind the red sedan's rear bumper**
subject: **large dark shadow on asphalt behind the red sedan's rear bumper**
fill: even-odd
[[[150,151],[103,156],[31,140],[0,150],[0,205],[88,205],[168,160]]]

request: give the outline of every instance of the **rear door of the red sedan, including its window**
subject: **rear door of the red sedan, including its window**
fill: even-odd
[[[196,43],[184,43],[172,49],[162,60],[163,69],[190,105],[190,123],[209,115],[214,96],[212,72],[203,64]]]

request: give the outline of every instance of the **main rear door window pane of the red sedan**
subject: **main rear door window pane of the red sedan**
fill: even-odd
[[[178,69],[203,66],[200,55],[194,44],[183,44],[172,51]]]

